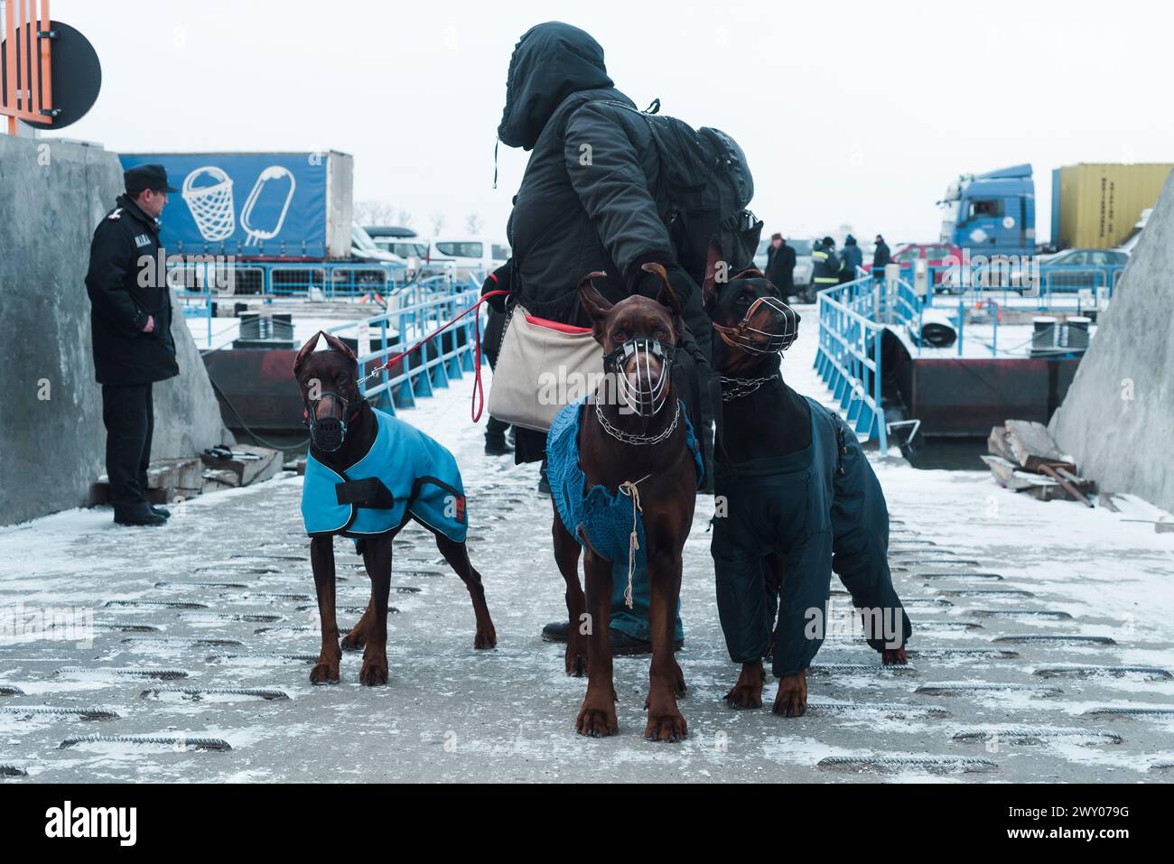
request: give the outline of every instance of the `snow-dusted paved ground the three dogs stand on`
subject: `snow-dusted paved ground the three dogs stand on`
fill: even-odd
[[[804,315],[812,320],[814,309]],[[828,401],[811,370],[812,331],[788,355],[784,373]],[[495,650],[473,650],[463,585],[410,528],[396,545],[389,686],[360,687],[357,654],[344,655],[342,683],[310,686],[311,663],[299,655],[317,654],[317,613],[297,477],[196,499],[163,528],[117,528],[108,509],[0,528],[9,561],[0,614],[19,608],[40,621],[52,609],[59,625],[66,613],[93,625],[0,639],[0,694],[19,690],[0,695],[0,764],[28,772],[8,782],[1169,779],[1151,768],[1174,761],[1174,533],[1153,525],[1169,514],[1128,495],[1113,499],[1119,512],[1044,504],[1000,490],[985,470],[916,471],[898,458],[875,465],[895,520],[893,578],[916,629],[911,668],[883,669],[866,644],[838,636],[816,659],[805,717],[774,716],[772,684],[767,709],[728,709],[721,697],[736,668],[714,601],[711,499],[701,497],[686,547],[679,655],[688,740],[641,740],[647,657],[615,661],[620,736],[575,735],[586,682],[567,677],[561,646],[539,636],[542,623],[565,615],[549,500],[534,490],[537,466],[484,455],[483,427],[468,419],[471,387],[466,374],[403,417],[463,466],[470,549],[485,576]],[[344,627],[367,596],[350,548],[336,544]],[[835,579],[832,587],[841,589]],[[846,599],[832,601],[843,608]],[[11,619],[0,637],[12,635]],[[1112,642],[997,641],[1019,636]],[[128,674],[169,670],[185,677]],[[973,684],[987,689],[966,689]],[[288,698],[161,689],[175,687]],[[22,714],[26,707],[117,716]],[[1093,713],[1107,707],[1172,713]],[[211,737],[232,749],[60,747],[90,734]],[[817,767],[835,756],[993,764]]]

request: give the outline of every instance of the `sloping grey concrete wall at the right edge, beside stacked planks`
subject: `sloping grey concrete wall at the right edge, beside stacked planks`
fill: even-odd
[[[1174,175],[1048,430],[1101,491],[1174,512]]]

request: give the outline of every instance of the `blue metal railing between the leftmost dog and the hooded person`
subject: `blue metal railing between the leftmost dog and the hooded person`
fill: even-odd
[[[480,299],[480,282],[475,276],[470,276],[467,282],[448,293],[427,296],[429,290],[426,284],[417,283],[404,292],[400,298],[404,302],[396,309],[340,324],[330,332],[358,337],[362,342],[365,328],[371,345],[379,346],[359,356],[359,369],[364,373],[371,372],[429,333],[438,331]],[[396,409],[412,407],[418,398],[432,396],[436,389],[447,387],[450,380],[472,372],[477,359],[473,328],[483,326],[481,315],[478,311],[466,316],[405,355],[391,369],[380,371],[378,378],[362,385],[363,394],[394,413]]]

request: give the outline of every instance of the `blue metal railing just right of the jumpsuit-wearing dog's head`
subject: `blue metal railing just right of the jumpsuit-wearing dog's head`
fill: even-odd
[[[815,367],[858,434],[889,450],[880,403],[880,286],[869,275],[816,295],[819,350]]]

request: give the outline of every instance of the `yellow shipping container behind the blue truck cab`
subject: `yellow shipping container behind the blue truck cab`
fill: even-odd
[[[1052,171],[1052,242],[1113,249],[1153,207],[1174,163],[1080,163]]]

